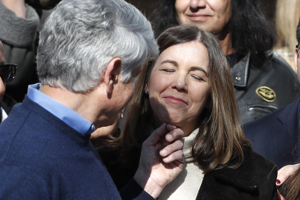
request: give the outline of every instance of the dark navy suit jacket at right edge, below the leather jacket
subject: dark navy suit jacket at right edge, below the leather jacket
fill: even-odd
[[[244,125],[253,150],[282,168],[299,159],[300,99]],[[298,143],[298,144],[297,144]],[[294,158],[293,151],[295,151]]]

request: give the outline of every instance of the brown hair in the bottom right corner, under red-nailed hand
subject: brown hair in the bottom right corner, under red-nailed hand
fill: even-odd
[[[300,165],[296,172],[278,186],[279,193],[285,200],[300,200]]]

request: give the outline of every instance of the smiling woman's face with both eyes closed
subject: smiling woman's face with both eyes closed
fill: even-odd
[[[146,84],[157,122],[197,126],[210,93],[208,65],[200,42],[174,45],[159,55]]]

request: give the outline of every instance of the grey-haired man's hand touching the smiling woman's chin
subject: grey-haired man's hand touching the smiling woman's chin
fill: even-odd
[[[143,143],[134,179],[154,198],[183,169],[182,137],[181,129],[163,123]]]

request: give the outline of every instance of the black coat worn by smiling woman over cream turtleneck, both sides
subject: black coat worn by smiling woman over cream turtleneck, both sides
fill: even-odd
[[[117,158],[118,150],[108,147],[97,150],[117,188],[122,188],[137,169],[138,153],[132,155],[138,157],[132,166],[124,168],[123,165],[111,162],[112,158]],[[253,152],[250,147],[244,149],[244,157],[244,161],[238,169],[217,169],[205,175],[196,199],[278,199],[275,185],[277,168],[274,163]],[[229,165],[234,165],[236,162],[237,158],[232,160]]]

